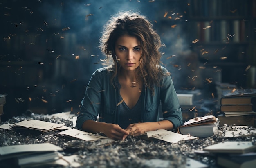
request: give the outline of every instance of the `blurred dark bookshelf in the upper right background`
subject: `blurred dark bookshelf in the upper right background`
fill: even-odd
[[[187,0],[191,49],[208,68],[222,71],[222,82],[253,87],[248,66],[256,66],[256,0]],[[254,82],[255,83],[255,82]]]

